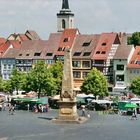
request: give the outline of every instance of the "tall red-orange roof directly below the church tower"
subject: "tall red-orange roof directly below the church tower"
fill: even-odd
[[[80,34],[78,29],[65,29],[62,32],[59,48],[56,55],[64,55],[65,48],[72,48],[78,34]]]

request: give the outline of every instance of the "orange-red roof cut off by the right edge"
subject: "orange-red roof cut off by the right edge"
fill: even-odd
[[[140,68],[140,46],[136,46],[128,68]]]

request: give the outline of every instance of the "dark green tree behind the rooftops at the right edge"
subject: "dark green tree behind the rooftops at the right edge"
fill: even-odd
[[[140,32],[134,32],[132,34],[132,37],[128,38],[127,43],[134,46],[140,45]]]

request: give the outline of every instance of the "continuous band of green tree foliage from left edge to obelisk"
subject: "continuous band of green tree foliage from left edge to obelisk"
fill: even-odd
[[[26,92],[35,91],[38,97],[42,94],[56,95],[61,91],[63,64],[56,62],[48,66],[44,61],[38,61],[28,72],[20,72],[14,68],[8,81],[0,79],[0,90],[12,93],[14,90]]]

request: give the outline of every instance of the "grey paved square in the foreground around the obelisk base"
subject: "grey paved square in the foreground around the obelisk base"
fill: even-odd
[[[51,119],[57,110],[34,114],[16,111],[9,115],[0,112],[0,140],[139,140],[140,116],[107,115],[90,112],[91,118],[83,124],[59,125]]]

